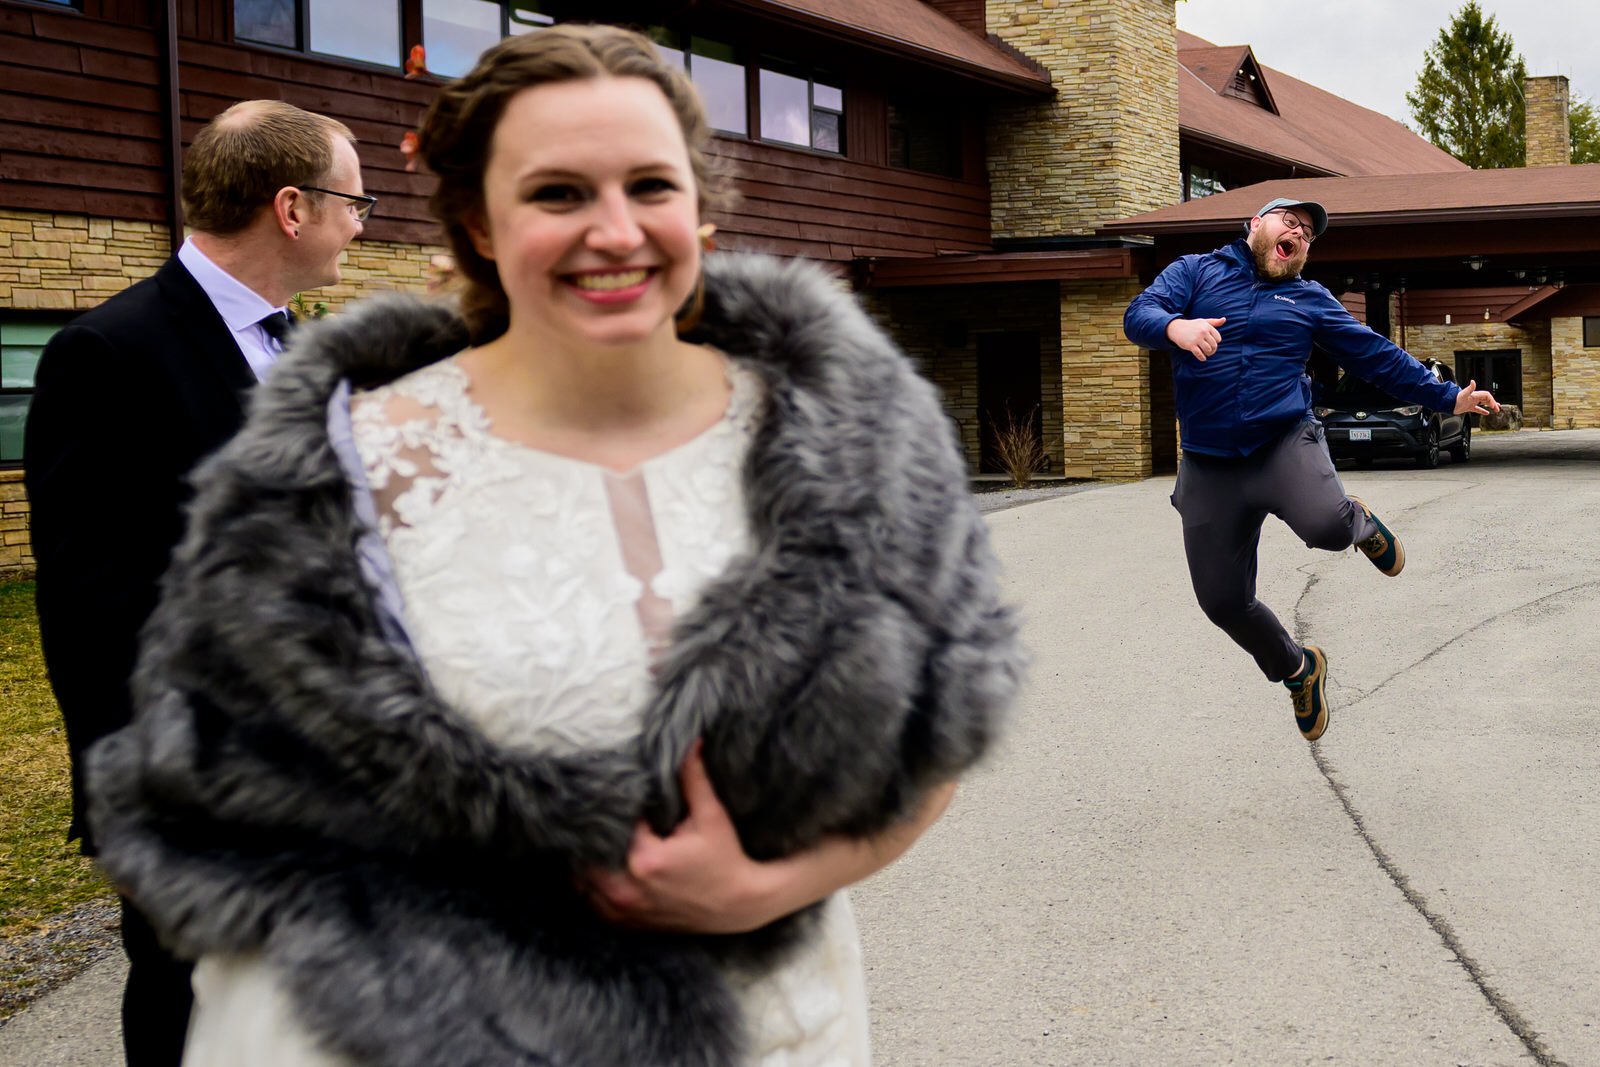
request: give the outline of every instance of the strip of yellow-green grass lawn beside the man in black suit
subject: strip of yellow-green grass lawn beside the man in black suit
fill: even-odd
[[[0,947],[37,941],[110,888],[77,843],[67,843],[72,789],[67,734],[38,653],[34,584],[0,584]],[[70,955],[58,944],[53,955]],[[32,955],[24,953],[24,955]],[[6,985],[30,984],[18,955],[0,952]],[[34,968],[27,968],[34,969]]]

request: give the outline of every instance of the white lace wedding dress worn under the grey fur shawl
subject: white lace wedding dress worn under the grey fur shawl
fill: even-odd
[[[674,616],[749,537],[741,467],[762,386],[736,363],[728,378],[715,426],[627,474],[496,437],[454,360],[355,398],[355,443],[411,638],[440,694],[485,734],[578,750],[638,729]],[[867,1062],[843,893],[781,969],[730,982],[752,1067]],[[261,957],[206,957],[194,987],[186,1067],[347,1067],[317,1049]]]

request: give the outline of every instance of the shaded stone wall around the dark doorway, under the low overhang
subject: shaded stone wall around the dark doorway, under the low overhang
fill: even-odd
[[[1046,474],[1061,474],[1061,334],[1051,282],[925,290],[872,290],[862,302],[939,389],[962,434],[966,469],[978,472],[978,338],[1038,333],[1040,414]]]

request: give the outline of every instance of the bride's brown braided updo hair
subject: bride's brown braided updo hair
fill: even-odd
[[[494,128],[523,90],[603,77],[645,78],[661,90],[688,146],[701,216],[720,198],[722,186],[706,158],[706,109],[690,80],[661,58],[650,38],[616,26],[578,24],[507,37],[485,51],[466,77],[440,90],[418,134],[418,155],[438,176],[429,206],[456,256],[461,312],[472,344],[493,341],[510,322],[499,270],[478,254],[467,230],[469,219],[483,216],[483,174]]]

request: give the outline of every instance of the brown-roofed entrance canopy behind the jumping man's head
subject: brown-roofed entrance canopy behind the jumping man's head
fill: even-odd
[[[1179,256],[1240,237],[1275,197],[1328,210],[1306,277],[1334,293],[1600,282],[1600,163],[1267,181],[1099,232],[1154,238],[1154,277]]]

